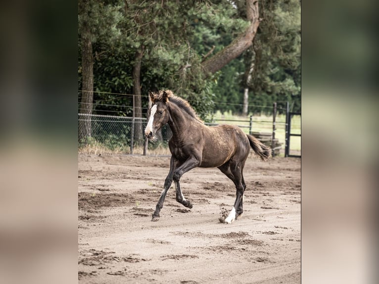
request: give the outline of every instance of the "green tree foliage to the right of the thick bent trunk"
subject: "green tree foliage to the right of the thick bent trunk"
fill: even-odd
[[[260,1],[264,20],[254,38],[254,72],[250,104],[301,109],[301,26],[297,0]],[[256,110],[253,109],[253,112]],[[280,110],[282,112],[282,110]]]

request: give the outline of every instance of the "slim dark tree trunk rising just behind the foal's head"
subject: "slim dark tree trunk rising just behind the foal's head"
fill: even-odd
[[[137,50],[135,54],[135,62],[133,66],[133,93],[134,93],[134,116],[136,118],[142,118],[142,97],[141,97],[141,62],[143,56],[144,47]],[[134,129],[134,142],[136,145],[142,145],[143,143],[143,127],[142,119],[136,119]]]

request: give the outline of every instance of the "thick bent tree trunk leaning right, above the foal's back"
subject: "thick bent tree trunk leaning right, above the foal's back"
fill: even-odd
[[[235,39],[229,46],[225,47],[213,57],[203,62],[202,65],[206,76],[219,71],[222,67],[235,59],[252,45],[260,23],[258,0],[246,0],[246,19],[251,23],[246,31]]]

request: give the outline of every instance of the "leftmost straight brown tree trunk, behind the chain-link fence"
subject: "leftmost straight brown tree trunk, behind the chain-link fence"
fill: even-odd
[[[82,36],[82,99],[79,113],[79,141],[91,137],[91,114],[94,100],[94,57],[92,54],[92,41],[90,37]]]

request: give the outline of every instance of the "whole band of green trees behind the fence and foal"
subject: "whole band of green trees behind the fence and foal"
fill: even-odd
[[[244,90],[246,114],[287,100],[299,110],[300,9],[296,0],[80,0],[80,111],[133,105],[92,91],[126,93],[143,117],[144,95],[159,89],[190,100],[205,120],[216,110],[242,114]]]

